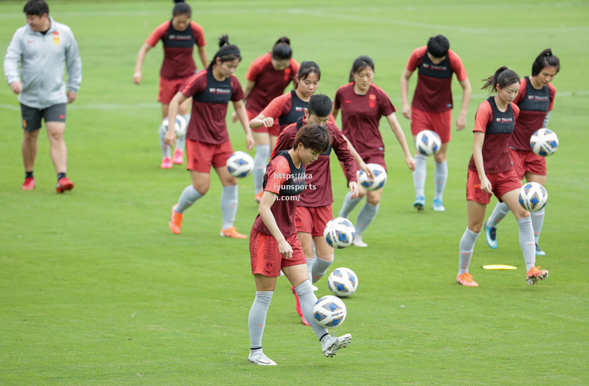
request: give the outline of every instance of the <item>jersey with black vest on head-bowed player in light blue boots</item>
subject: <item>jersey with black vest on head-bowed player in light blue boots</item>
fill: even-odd
[[[466,70],[462,60],[451,49],[438,64],[432,63],[427,52],[427,46],[416,48],[407,62],[408,71],[419,68],[412,105],[422,111],[449,110],[452,108],[452,73],[456,73],[458,81],[464,81],[468,77]]]

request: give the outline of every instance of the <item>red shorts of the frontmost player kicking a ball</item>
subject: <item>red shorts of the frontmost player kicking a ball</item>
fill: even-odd
[[[303,247],[301,247],[296,233],[285,237],[285,239],[293,248],[293,256],[290,259],[282,257],[282,254],[278,251],[278,242],[273,236],[258,232],[252,228],[250,232],[252,275],[262,274],[267,277],[278,277],[282,267],[307,264]]]

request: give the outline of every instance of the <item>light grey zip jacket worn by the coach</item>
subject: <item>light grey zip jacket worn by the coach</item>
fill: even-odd
[[[18,101],[39,109],[67,103],[64,64],[68,69],[68,90],[78,92],[82,82],[82,61],[72,30],[51,16],[49,19],[51,27],[45,35],[31,31],[28,24],[17,29],[4,56],[8,84],[19,80],[21,62],[22,92]]]

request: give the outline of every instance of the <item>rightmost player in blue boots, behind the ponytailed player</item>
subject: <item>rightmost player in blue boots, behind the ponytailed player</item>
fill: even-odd
[[[515,173],[522,181],[525,177],[525,181],[538,182],[542,186],[546,184],[546,158],[531,151],[530,137],[539,128],[548,127],[548,119],[556,95],[556,88],[551,82],[559,70],[560,60],[552,55],[550,48],[540,52],[532,64],[532,76],[524,76],[519,82],[519,94],[514,101],[519,107],[519,118],[515,123],[514,133],[509,139],[509,152]],[[538,247],[538,239],[544,224],[544,209],[530,213],[537,256],[546,254]],[[493,249],[497,249],[498,244],[497,224],[508,212],[507,205],[504,202],[498,202],[485,222],[485,239],[489,247]]]

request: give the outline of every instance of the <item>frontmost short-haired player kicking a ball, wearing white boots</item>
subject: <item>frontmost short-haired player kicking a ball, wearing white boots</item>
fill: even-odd
[[[350,334],[330,337],[327,330],[313,318],[317,297],[307,277],[305,254],[294,225],[297,200],[305,189],[306,165],[327,151],[332,140],[332,134],[324,126],[303,126],[294,138],[293,147],[289,151],[278,152],[264,175],[259,215],[250,232],[250,258],[256,282],[256,298],[248,319],[251,343],[248,360],[255,364],[276,364],[262,351],[262,334],[280,269],[299,295],[303,314],[319,338],[323,355],[333,357],[337,350],[346,347],[352,339]]]

